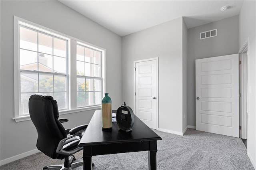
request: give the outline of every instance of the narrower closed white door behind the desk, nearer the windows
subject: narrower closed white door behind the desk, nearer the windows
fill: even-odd
[[[135,115],[148,127],[157,125],[157,59],[135,61]]]

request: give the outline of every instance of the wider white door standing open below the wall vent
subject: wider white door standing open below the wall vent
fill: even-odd
[[[239,137],[238,58],[196,60],[196,130]]]

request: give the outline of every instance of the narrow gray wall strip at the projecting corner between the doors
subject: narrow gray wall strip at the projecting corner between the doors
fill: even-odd
[[[187,61],[188,61],[188,28],[182,21],[182,132],[188,126],[188,93],[187,93]]]

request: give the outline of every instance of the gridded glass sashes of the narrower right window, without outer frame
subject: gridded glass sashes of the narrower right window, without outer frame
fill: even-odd
[[[102,99],[102,52],[85,45],[76,46],[77,107],[100,105]]]

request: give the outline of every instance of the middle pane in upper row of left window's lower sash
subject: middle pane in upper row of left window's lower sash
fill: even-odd
[[[53,75],[39,74],[39,92],[53,91]]]

